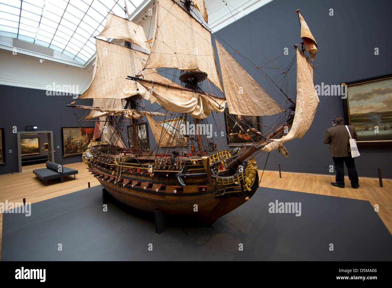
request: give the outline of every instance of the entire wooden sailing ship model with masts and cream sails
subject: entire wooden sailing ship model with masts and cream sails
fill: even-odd
[[[93,105],[67,106],[86,109],[83,120],[97,119],[100,135],[94,136],[82,159],[114,198],[140,210],[160,209],[211,225],[256,192],[260,184],[256,153],[278,149],[287,157],[283,144],[309,129],[319,99],[305,53],[313,60],[317,44],[297,10],[303,42],[294,45],[296,56],[282,71],[282,77],[287,76],[296,62],[296,92],[291,99],[289,91],[270,80],[285,104],[279,105],[234,59],[243,56],[229,53],[223,40],[211,33],[203,0],[158,0],[154,12],[150,40],[141,25],[109,13],[96,38],[93,80],[79,97],[92,98]],[[174,72],[168,76],[163,68]],[[208,93],[203,85],[218,92]],[[144,101],[157,108],[146,109]],[[277,117],[263,133],[242,123],[244,136],[253,143],[234,149],[218,149],[213,138],[181,129],[185,123],[208,125],[207,118],[210,123],[217,121],[218,113],[230,118]],[[125,123],[131,124],[129,139]],[[148,124],[155,147],[138,141],[146,138],[142,124]]]

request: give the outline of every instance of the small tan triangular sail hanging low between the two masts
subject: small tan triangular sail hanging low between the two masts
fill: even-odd
[[[180,127],[174,127],[174,132],[171,132],[155,121],[150,115],[147,115],[147,120],[159,147],[177,147],[185,145],[184,137],[178,132]]]

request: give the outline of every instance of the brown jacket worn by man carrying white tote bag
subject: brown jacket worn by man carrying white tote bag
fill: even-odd
[[[351,138],[358,141],[359,137],[355,131],[354,126],[348,126]],[[332,157],[346,157],[351,156],[350,152],[350,136],[348,136],[345,125],[338,124],[334,127],[328,128],[324,135],[324,144],[329,144],[329,154]]]

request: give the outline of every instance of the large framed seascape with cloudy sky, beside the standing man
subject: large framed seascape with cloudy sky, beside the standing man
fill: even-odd
[[[392,141],[392,74],[345,85],[345,123],[355,127],[357,142]]]

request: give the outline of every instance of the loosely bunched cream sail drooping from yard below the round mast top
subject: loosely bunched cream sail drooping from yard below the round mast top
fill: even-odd
[[[215,98],[205,94],[168,88],[162,85],[154,85],[148,82],[139,82],[156,101],[168,111],[188,113],[194,118],[207,118],[211,111],[223,112],[225,110],[225,100]]]

